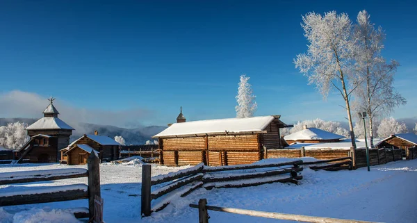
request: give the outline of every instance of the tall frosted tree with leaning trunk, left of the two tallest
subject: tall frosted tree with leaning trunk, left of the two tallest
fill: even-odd
[[[353,75],[352,22],[342,13],[308,13],[302,17],[304,36],[308,40],[306,53],[294,59],[295,67],[315,84],[324,98],[334,88],[345,102],[352,147],[356,147],[350,108],[350,97],[359,81]]]

